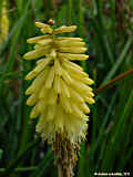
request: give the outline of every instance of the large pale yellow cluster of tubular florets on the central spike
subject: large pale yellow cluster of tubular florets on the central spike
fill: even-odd
[[[35,67],[25,76],[33,80],[25,91],[30,95],[27,105],[33,106],[30,117],[39,121],[35,131],[43,139],[54,140],[62,133],[72,143],[85,138],[88,128],[88,104],[94,103],[93,80],[73,61],[89,56],[81,38],[57,37],[73,32],[76,27],[52,29],[49,24],[35,22],[43,35],[28,39],[34,49],[24,54],[25,60],[35,60]],[[41,59],[40,59],[41,58]]]

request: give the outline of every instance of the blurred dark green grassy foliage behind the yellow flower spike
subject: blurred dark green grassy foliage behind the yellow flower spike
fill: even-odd
[[[0,11],[3,0],[0,0]],[[34,21],[78,25],[72,37],[86,42],[90,59],[79,63],[95,81],[94,90],[133,67],[132,0],[8,0],[10,23],[0,50],[0,177],[57,177],[54,156],[29,119],[25,74],[34,61],[27,39],[41,34]],[[95,95],[86,143],[81,144],[75,177],[93,171],[133,170],[133,75]]]

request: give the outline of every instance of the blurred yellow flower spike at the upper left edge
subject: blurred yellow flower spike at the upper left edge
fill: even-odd
[[[7,1],[3,0],[0,13],[0,48],[6,42],[9,33],[9,19],[7,15]]]

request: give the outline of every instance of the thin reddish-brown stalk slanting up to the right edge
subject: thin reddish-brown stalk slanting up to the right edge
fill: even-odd
[[[117,83],[119,81],[123,80],[124,77],[126,77],[126,76],[129,76],[129,75],[131,75],[131,74],[133,74],[133,67],[130,69],[130,70],[127,70],[127,71],[125,71],[124,73],[115,76],[114,79],[110,80],[106,84],[104,84],[104,85],[102,85],[102,86],[99,86],[99,87],[94,91],[94,93],[95,93],[95,94],[99,94],[99,93],[102,92],[103,90],[105,90],[105,88],[108,88],[108,87],[110,87],[110,86],[113,86],[115,83]]]

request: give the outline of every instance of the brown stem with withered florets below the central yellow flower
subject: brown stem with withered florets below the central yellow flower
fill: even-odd
[[[76,149],[62,133],[57,133],[53,152],[55,154],[59,177],[73,177],[73,167],[78,160]]]

